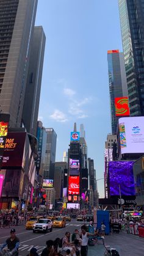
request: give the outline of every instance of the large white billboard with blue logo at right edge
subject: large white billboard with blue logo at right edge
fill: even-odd
[[[144,117],[122,117],[118,123],[121,154],[144,153]]]

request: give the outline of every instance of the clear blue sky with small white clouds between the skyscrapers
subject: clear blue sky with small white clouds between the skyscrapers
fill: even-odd
[[[74,122],[84,124],[96,179],[104,177],[111,133],[107,50],[122,51],[117,0],[38,0],[36,26],[46,35],[39,120],[57,133],[56,161],[68,150]],[[98,181],[99,197],[104,180]]]

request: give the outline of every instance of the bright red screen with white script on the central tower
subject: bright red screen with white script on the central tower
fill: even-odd
[[[68,194],[69,195],[79,194],[79,176],[70,176],[69,177]]]

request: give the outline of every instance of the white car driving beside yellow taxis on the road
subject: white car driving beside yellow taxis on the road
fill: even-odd
[[[51,219],[39,219],[37,223],[34,224],[33,233],[35,232],[52,232],[52,221]]]

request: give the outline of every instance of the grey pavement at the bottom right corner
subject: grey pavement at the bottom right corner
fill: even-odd
[[[105,245],[117,249],[120,256],[143,256],[144,238],[125,232],[105,236]],[[106,249],[103,245],[88,246],[88,256],[104,256]]]

